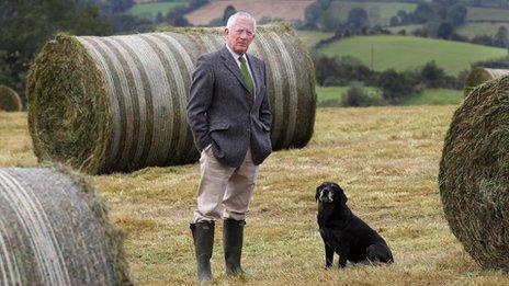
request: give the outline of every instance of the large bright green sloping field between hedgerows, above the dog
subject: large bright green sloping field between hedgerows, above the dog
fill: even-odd
[[[506,56],[507,49],[411,36],[359,36],[332,43],[319,53],[353,56],[374,70],[401,71],[436,60],[448,73],[457,75],[474,61]]]

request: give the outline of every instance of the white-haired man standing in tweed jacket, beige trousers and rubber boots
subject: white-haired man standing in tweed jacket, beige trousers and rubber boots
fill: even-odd
[[[219,219],[226,273],[244,273],[245,219],[258,165],[272,151],[265,65],[246,54],[255,32],[250,14],[231,15],[224,30],[226,46],[201,56],[193,73],[188,123],[201,151],[201,181],[191,230],[201,282],[212,279],[210,260]]]

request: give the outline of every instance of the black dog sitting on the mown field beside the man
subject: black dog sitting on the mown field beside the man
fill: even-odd
[[[325,244],[325,266],[332,266],[333,253],[339,266],[353,263],[392,263],[393,253],[385,240],[347,206],[347,196],[336,183],[325,182],[316,188],[318,226]]]

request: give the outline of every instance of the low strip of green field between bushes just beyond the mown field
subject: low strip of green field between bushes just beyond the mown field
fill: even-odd
[[[347,93],[349,87],[317,87],[316,93],[318,104],[326,101],[340,101]],[[381,91],[375,88],[364,87],[364,92],[371,94],[373,98],[378,98]],[[463,101],[463,91],[432,89],[425,90],[421,94],[410,96],[401,103],[401,105],[446,105],[460,104]]]

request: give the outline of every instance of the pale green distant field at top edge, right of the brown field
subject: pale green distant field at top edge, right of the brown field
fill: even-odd
[[[414,3],[398,3],[398,2],[348,2],[336,1],[331,5],[331,11],[339,20],[346,21],[348,12],[353,8],[362,8],[367,12],[370,24],[388,25],[391,18],[397,14],[397,11],[403,10],[411,12],[416,9],[417,4]]]

